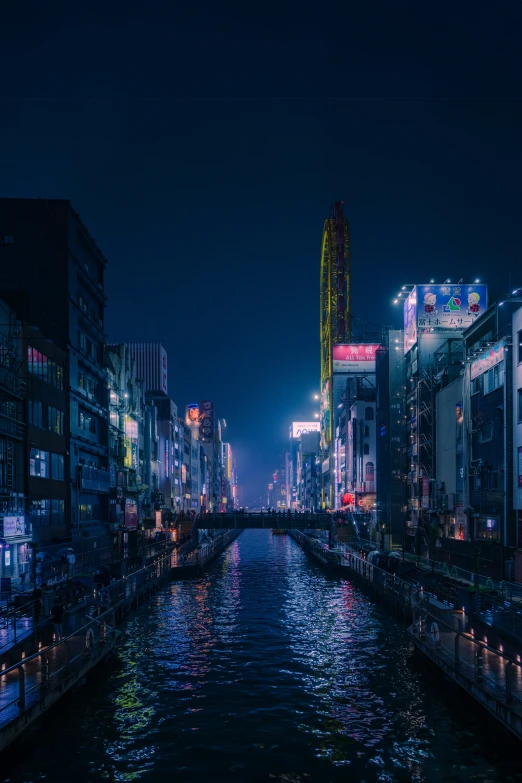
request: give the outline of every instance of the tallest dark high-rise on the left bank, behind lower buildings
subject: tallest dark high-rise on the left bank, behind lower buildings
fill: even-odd
[[[9,279],[0,282],[0,295],[19,318],[67,355],[65,410],[49,405],[43,412],[46,427],[54,427],[63,417],[70,437],[67,528],[75,537],[106,533],[109,472],[103,323],[107,261],[66,200],[0,199],[0,226],[4,238],[0,264],[9,270]],[[32,348],[46,355],[38,346]]]

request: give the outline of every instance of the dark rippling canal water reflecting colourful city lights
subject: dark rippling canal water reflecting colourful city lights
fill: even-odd
[[[385,610],[260,530],[143,607],[0,780],[487,783],[518,757]]]

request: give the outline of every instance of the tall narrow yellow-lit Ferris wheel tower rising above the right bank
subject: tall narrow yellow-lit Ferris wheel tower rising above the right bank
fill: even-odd
[[[324,222],[321,246],[321,448],[329,472],[321,471],[321,506],[334,497],[333,346],[351,338],[350,226],[343,202],[336,201]]]

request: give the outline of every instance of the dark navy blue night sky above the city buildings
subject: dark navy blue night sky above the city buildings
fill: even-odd
[[[518,2],[76,5],[3,6],[0,194],[71,199],[110,339],[161,341],[180,409],[215,400],[246,502],[316,409],[334,200],[356,315],[522,285]]]

